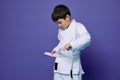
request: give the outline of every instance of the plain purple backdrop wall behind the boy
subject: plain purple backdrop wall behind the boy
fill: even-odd
[[[92,36],[83,80],[120,80],[120,0],[0,0],[0,80],[53,80],[43,52],[58,43],[51,12],[61,3]]]

